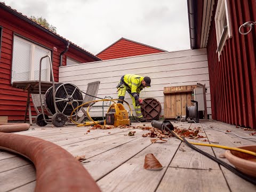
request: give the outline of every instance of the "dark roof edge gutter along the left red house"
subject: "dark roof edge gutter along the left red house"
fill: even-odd
[[[41,29],[41,30],[44,31],[45,33],[47,33],[47,34],[49,34],[49,35],[51,35],[51,36],[53,36],[53,37],[59,39],[61,42],[65,43],[65,44],[67,43],[67,41],[66,41],[65,39],[63,39],[63,38],[61,38],[60,36],[54,34],[52,31],[50,31],[50,30],[48,30],[48,29],[42,27],[42,26],[39,25],[38,23],[36,23],[36,22],[30,20],[29,18],[25,17],[24,15],[22,15],[22,14],[16,12],[16,11],[14,11],[14,10],[12,10],[10,7],[8,7],[8,6],[6,6],[6,5],[4,5],[4,4],[2,4],[2,3],[0,3],[0,7],[1,7],[3,10],[5,10],[5,11],[7,11],[7,12],[9,12],[9,13],[15,15],[15,16],[17,16],[18,18],[27,21],[28,23],[30,23],[31,25],[37,27],[38,29]],[[69,43],[69,44],[70,44],[70,43]],[[88,52],[86,52],[86,51],[84,51],[84,50],[82,50],[82,49],[79,49],[77,46],[75,46],[75,45],[73,45],[73,44],[71,44],[71,45],[72,45],[72,47],[74,47],[74,49],[85,53],[85,54],[88,55],[89,57],[94,58],[94,59],[96,59],[96,60],[98,60],[98,61],[101,61],[101,59],[95,57],[94,55],[92,55],[92,54],[90,54],[90,53],[88,53]],[[71,45],[70,45],[70,46],[71,46]]]

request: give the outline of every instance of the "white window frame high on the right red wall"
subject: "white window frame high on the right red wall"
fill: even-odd
[[[223,22],[226,16],[227,27],[223,27]],[[230,4],[229,0],[219,0],[215,13],[215,27],[217,36],[218,57],[220,59],[221,51],[228,38],[232,37],[231,19],[230,19]]]

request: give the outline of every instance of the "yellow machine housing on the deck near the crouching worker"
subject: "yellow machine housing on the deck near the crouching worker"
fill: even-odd
[[[130,119],[127,110],[122,103],[113,103],[106,114],[105,124],[107,125],[130,125]]]

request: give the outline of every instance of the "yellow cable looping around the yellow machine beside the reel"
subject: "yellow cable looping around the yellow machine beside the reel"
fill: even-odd
[[[88,126],[88,125],[92,125],[92,124],[97,124],[97,125],[100,125],[99,122],[95,122],[93,121],[93,119],[91,118],[90,114],[89,114],[89,108],[90,107],[87,107],[87,117],[89,118],[90,121],[92,122],[89,122],[89,123],[86,123],[86,124],[81,124],[81,123],[77,123],[75,122],[73,119],[72,119],[72,115],[73,113],[75,112],[76,109],[78,109],[79,107],[83,107],[84,105],[88,104],[88,103],[91,103],[91,102],[99,102],[99,101],[112,101],[114,103],[116,103],[115,101],[123,101],[121,99],[101,99],[101,100],[94,100],[94,101],[89,101],[89,102],[86,102],[86,103],[83,103],[82,105],[79,105],[78,107],[76,107],[72,113],[70,114],[70,119],[71,119],[71,122],[75,123],[77,126]],[[127,103],[126,101],[123,101],[126,103],[126,105],[129,107],[130,111],[131,111],[131,116],[132,116],[132,109],[129,105],[129,103]],[[100,125],[101,126],[101,125]]]

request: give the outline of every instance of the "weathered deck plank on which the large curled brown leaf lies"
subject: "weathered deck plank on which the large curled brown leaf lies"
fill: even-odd
[[[102,191],[155,191],[175,155],[180,141],[170,138],[154,143],[98,181]],[[143,169],[145,155],[152,153],[164,166],[161,171]]]

